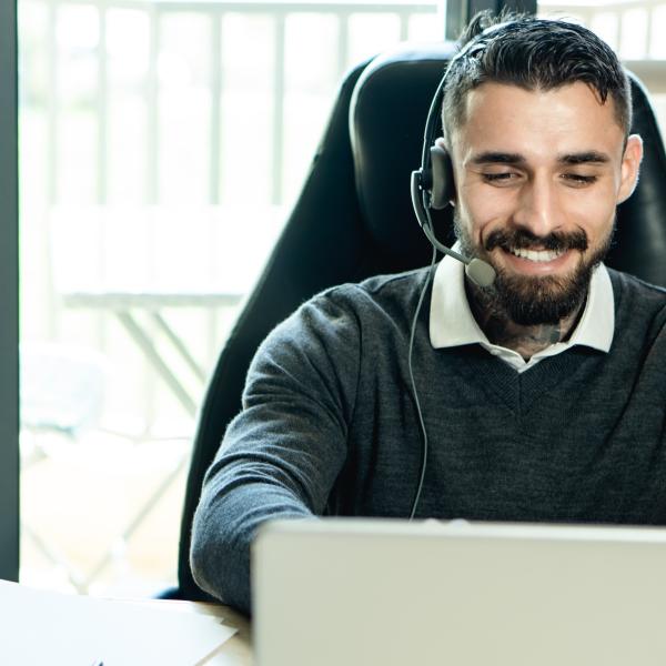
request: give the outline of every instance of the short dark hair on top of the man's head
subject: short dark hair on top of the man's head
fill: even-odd
[[[526,90],[553,90],[582,81],[602,103],[614,101],[615,117],[628,137],[632,90],[610,47],[594,32],[561,20],[531,16],[477,13],[460,41],[458,54],[446,73],[442,124],[450,143],[453,129],[464,122],[465,98],[493,81]]]

